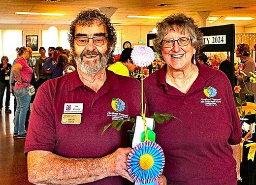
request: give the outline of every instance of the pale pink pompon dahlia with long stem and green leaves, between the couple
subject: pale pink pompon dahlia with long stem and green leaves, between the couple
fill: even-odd
[[[147,46],[138,46],[133,49],[131,52],[131,59],[138,67],[140,67],[140,78],[141,78],[141,117],[144,123],[144,126],[147,127],[146,119],[145,119],[145,112],[144,112],[144,104],[143,104],[143,78],[145,75],[148,75],[148,69],[147,67],[152,64],[153,61],[155,61],[155,54],[153,50],[150,47]],[[158,64],[162,66],[162,62],[158,61]],[[156,65],[158,65],[156,64]],[[146,105],[145,105],[146,106]],[[154,113],[151,118],[155,120],[157,123],[163,123],[164,120],[170,120],[171,118],[176,118],[173,115],[170,114],[160,114],[160,113]],[[134,133],[135,130],[135,118],[128,118],[125,120],[114,120],[112,123],[107,124],[104,126],[102,134],[106,131],[108,127],[112,125],[113,128],[116,128],[117,130],[120,130],[122,125],[126,122],[133,123],[133,127],[130,132]],[[155,126],[154,126],[155,127]],[[153,129],[154,129],[153,127]],[[146,135],[146,134],[145,134]]]

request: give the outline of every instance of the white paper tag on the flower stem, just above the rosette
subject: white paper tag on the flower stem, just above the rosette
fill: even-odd
[[[146,118],[147,126],[153,130],[154,119]],[[136,117],[136,126],[134,131],[134,136],[132,139],[132,147],[140,143],[141,133],[144,131],[144,123],[141,116]]]

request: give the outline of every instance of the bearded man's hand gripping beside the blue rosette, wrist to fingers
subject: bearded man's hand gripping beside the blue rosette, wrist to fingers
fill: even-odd
[[[119,148],[114,153],[103,157],[106,161],[107,172],[109,176],[121,175],[134,182],[127,172],[127,156],[131,148]]]

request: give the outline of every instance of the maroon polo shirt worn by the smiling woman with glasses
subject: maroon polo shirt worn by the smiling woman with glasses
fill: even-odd
[[[241,141],[242,132],[232,88],[223,72],[197,66],[199,75],[187,94],[166,83],[166,65],[145,79],[150,115],[179,119],[156,123],[164,175],[168,185],[236,185],[230,145]]]

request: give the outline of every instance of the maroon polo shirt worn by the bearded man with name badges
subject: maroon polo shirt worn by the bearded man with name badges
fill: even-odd
[[[119,105],[114,102],[114,108],[113,98],[121,102]],[[127,147],[126,131],[132,126],[130,123],[124,124],[120,131],[110,127],[103,135],[101,132],[112,119],[138,116],[140,98],[137,80],[108,70],[107,79],[98,92],[85,86],[77,71],[49,80],[40,86],[33,102],[25,154],[43,150],[64,157],[97,158]],[[69,103],[83,104],[80,124],[62,123]],[[89,184],[123,185],[123,181],[118,176]]]

